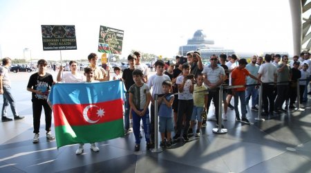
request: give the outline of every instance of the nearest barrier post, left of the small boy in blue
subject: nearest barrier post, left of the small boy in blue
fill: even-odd
[[[155,94],[154,116],[154,149],[151,152],[162,152],[162,148],[159,147],[158,94]]]

